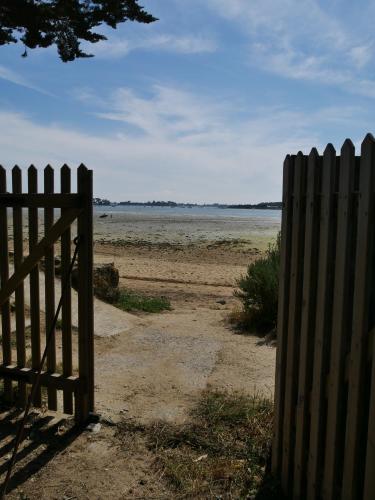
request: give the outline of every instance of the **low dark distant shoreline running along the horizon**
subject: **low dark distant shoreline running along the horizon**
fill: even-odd
[[[94,198],[94,206],[99,207],[117,207],[117,206],[135,206],[135,207],[169,207],[169,208],[193,208],[193,207],[203,207],[203,208],[231,208],[231,209],[258,209],[258,210],[281,210],[282,202],[272,201],[272,202],[261,202],[256,204],[223,204],[223,203],[176,203],[174,201],[146,201],[146,202],[136,202],[136,201],[120,201],[111,202],[102,198]]]

